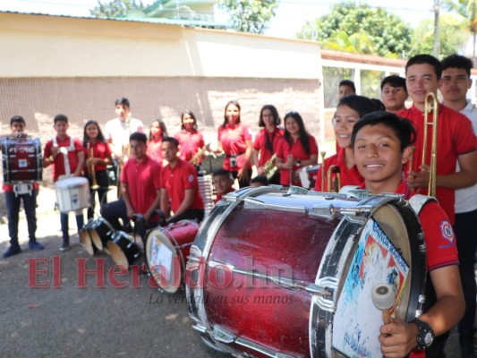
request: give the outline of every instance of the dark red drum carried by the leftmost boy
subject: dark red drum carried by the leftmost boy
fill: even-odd
[[[4,183],[41,182],[43,158],[38,138],[6,138],[2,141]]]

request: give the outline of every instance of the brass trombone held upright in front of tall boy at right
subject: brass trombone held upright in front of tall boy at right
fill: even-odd
[[[428,122],[428,115],[432,111],[432,122]],[[424,103],[424,144],[422,146],[422,165],[425,165],[428,141],[428,125],[432,125],[432,145],[430,151],[430,176],[428,185],[428,195],[436,196],[436,173],[437,173],[437,151],[438,151],[438,122],[439,122],[439,101],[432,92],[428,93]]]

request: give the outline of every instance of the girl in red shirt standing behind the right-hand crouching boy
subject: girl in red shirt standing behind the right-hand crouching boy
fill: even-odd
[[[175,134],[175,139],[179,141],[179,158],[191,162],[194,156],[199,156],[200,149],[204,147],[204,136],[197,130],[197,120],[192,111],[183,112],[181,123],[181,132]],[[191,164],[199,167],[202,158],[203,155],[194,158]]]

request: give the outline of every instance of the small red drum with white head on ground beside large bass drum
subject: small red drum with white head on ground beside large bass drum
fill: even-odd
[[[193,220],[181,220],[167,227],[157,227],[146,236],[146,260],[156,284],[174,294],[183,284],[185,260],[199,231]]]

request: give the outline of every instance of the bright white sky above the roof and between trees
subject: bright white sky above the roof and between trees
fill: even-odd
[[[177,0],[180,3],[180,0]],[[102,0],[107,3],[109,0]],[[152,4],[154,0],[143,0]],[[280,0],[275,18],[270,22],[267,35],[294,38],[302,29],[305,21],[319,18],[329,13],[334,4],[342,0]],[[372,7],[384,7],[396,13],[404,21],[415,27],[420,21],[433,19],[433,0],[400,0],[384,2],[382,0],[362,1]],[[383,5],[386,3],[386,5]],[[0,11],[19,13],[47,13],[52,15],[89,16],[89,9],[94,8],[98,0],[0,0]]]

